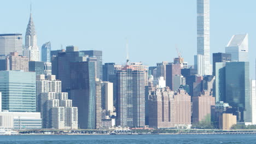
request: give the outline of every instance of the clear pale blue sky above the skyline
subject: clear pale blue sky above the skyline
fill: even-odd
[[[233,34],[249,34],[251,77],[255,75],[256,1],[211,0],[211,53],[225,52]],[[25,35],[30,0],[1,1],[0,33]],[[38,45],[67,45],[102,50],[104,62],[125,63],[125,38],[130,60],[149,66],[173,61],[175,44],[189,65],[196,54],[196,0],[32,1]]]

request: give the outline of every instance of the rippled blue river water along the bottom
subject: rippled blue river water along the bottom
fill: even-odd
[[[256,135],[17,135],[0,136],[0,143],[256,143]]]

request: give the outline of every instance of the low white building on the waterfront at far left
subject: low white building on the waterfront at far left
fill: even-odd
[[[0,128],[3,129],[41,129],[40,112],[0,112]]]

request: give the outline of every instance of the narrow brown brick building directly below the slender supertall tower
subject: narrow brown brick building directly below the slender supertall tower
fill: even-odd
[[[211,122],[211,107],[215,105],[215,98],[210,92],[203,91],[199,97],[193,97],[193,123]]]

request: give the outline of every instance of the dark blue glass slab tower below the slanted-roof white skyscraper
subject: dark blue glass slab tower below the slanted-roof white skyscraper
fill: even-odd
[[[237,107],[242,122],[252,122],[249,62],[229,62],[225,67],[226,98],[224,102]]]

